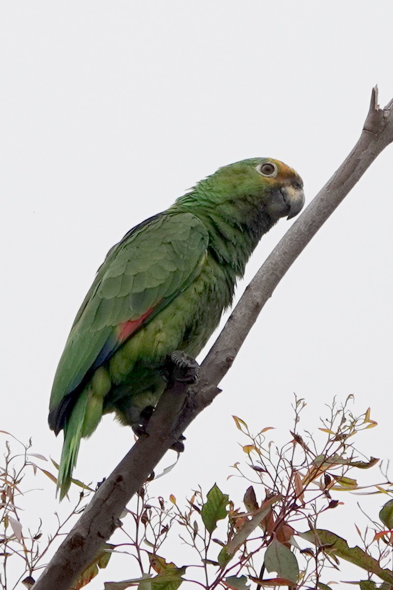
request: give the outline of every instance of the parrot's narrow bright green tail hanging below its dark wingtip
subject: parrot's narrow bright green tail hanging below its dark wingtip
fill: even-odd
[[[77,463],[79,445],[82,438],[87,401],[88,391],[85,390],[78,398],[64,428],[64,444],[57,477],[57,491],[60,490],[60,500],[64,498],[71,486],[72,471]]]

